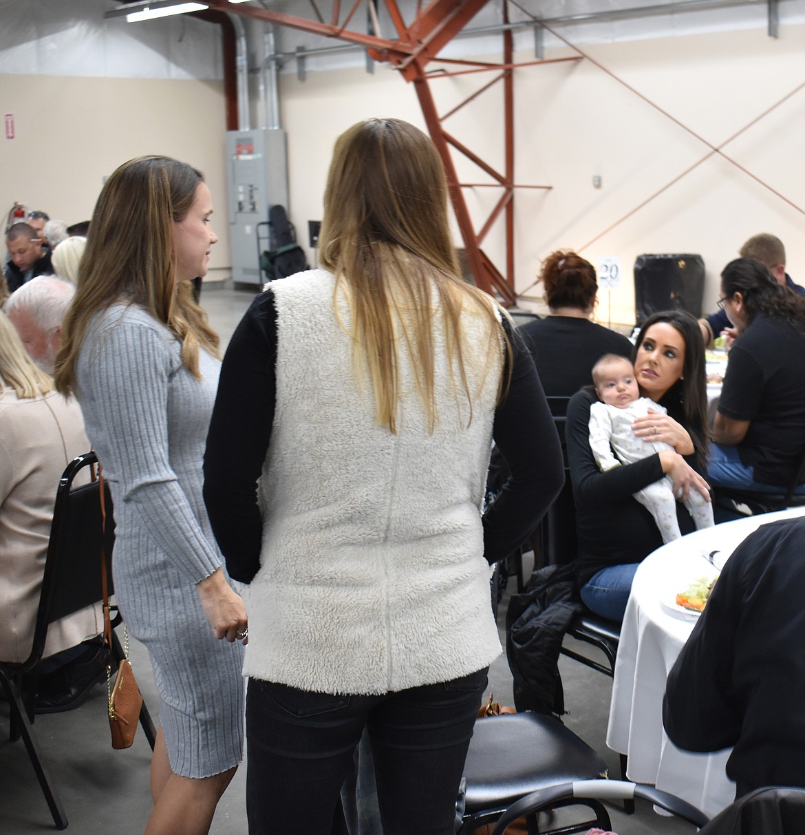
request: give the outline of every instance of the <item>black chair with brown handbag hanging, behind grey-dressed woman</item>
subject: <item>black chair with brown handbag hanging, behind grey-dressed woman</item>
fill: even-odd
[[[86,606],[100,605],[103,600],[100,561],[103,534],[99,485],[93,481],[73,488],[78,473],[93,466],[97,460],[95,453],[79,456],[68,465],[58,483],[31,653],[21,662],[0,661],[0,685],[11,706],[11,741],[23,737],[28,757],[31,758],[33,770],[57,829],[66,828],[68,820],[33,733],[36,666],[42,658],[50,624]],[[104,485],[104,488],[107,507],[106,559],[111,578],[114,542],[112,497],[108,485]],[[112,594],[113,589],[110,588],[109,593]],[[120,615],[116,613],[113,625],[118,625],[120,621]],[[124,655],[114,631],[112,655],[113,669],[117,669]],[[98,674],[100,672],[99,668]],[[156,731],[144,702],[140,711],[140,724],[153,750]]]

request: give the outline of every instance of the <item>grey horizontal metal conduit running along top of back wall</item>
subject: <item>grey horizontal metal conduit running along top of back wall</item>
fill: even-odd
[[[714,8],[732,8],[734,6],[767,6],[768,0],[682,0],[680,3],[656,3],[652,6],[636,6],[633,8],[612,9],[604,12],[590,12],[580,14],[567,14],[556,18],[545,18],[544,23],[549,26],[561,23],[595,23],[596,21],[626,20],[631,18],[647,18],[653,15],[697,12],[711,10]],[[524,29],[532,29],[536,26],[532,21],[521,21],[519,23],[497,23],[491,26],[479,26],[471,29],[463,29],[456,38],[475,38],[478,35],[494,35],[501,32],[519,32]],[[313,55],[326,55],[337,52],[363,52],[365,47],[355,43],[345,43],[337,47],[319,47],[305,49],[304,57]],[[280,58],[299,58],[297,52],[274,53],[269,56],[276,61]]]

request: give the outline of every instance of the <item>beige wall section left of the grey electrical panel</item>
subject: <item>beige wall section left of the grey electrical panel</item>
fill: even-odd
[[[14,200],[66,223],[88,220],[108,176],[140,154],[183,159],[204,172],[219,235],[210,259],[229,265],[224,179],[224,93],[216,81],[0,75],[0,212]]]

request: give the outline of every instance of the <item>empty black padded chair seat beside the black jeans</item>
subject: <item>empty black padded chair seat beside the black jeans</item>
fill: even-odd
[[[472,814],[556,783],[606,777],[606,762],[558,719],[526,711],[475,722],[464,776]]]

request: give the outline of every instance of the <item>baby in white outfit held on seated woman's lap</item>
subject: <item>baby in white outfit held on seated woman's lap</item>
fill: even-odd
[[[621,463],[640,461],[663,449],[673,449],[664,441],[638,438],[631,428],[637,417],[646,417],[648,412],[667,414],[665,408],[640,396],[631,362],[616,354],[606,354],[593,367],[592,382],[602,402],[593,403],[590,408],[590,448],[601,472],[606,473]],[[613,449],[617,458],[612,454]],[[634,498],[657,521],[663,542],[679,539],[682,534],[670,476],[634,493]],[[691,490],[684,504],[697,528],[712,527],[712,504],[701,493]]]

